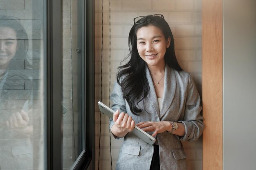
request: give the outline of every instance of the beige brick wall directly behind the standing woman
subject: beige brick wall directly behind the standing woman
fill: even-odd
[[[201,95],[201,3],[202,0],[110,0],[111,3],[111,80],[109,82],[109,0],[103,1],[103,81],[102,102],[109,104],[109,83],[112,90],[117,67],[128,54],[128,33],[133,18],[141,15],[160,13],[168,22],[175,39],[177,60],[185,71],[192,73]],[[95,0],[95,98],[96,98],[96,169],[99,157],[99,109],[101,97],[101,10],[102,0]],[[108,118],[101,117],[100,170],[110,170],[110,139]],[[119,140],[111,137],[112,169],[121,146]],[[202,169],[202,139],[197,142],[183,142],[188,155],[189,170]]]

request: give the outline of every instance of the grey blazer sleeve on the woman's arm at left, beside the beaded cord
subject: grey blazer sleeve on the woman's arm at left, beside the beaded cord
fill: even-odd
[[[123,97],[123,92],[121,90],[121,86],[117,83],[117,81],[115,81],[114,87],[113,87],[113,91],[110,95],[110,99],[112,100],[112,110],[116,111],[119,110],[119,113],[126,112],[126,102],[125,99]],[[115,122],[113,121],[113,119],[110,118],[109,120],[109,128],[111,130],[112,126],[115,124]],[[112,134],[114,136],[115,139],[119,139],[120,137],[115,136],[114,134]]]

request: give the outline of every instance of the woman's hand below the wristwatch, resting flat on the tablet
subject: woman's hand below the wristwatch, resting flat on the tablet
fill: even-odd
[[[157,135],[157,133],[162,133],[166,131],[166,128],[171,126],[170,121],[141,121],[136,124],[139,128],[144,130],[145,132],[154,132],[152,134],[153,137]]]

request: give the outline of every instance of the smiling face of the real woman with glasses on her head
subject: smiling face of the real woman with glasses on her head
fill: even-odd
[[[170,37],[166,40],[162,31],[153,25],[143,26],[137,31],[137,49],[139,56],[150,66],[163,68],[166,48],[170,46]]]

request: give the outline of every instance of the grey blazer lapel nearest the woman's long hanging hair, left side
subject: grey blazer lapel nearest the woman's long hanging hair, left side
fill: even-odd
[[[153,84],[153,81],[152,81],[152,78],[150,75],[150,71],[148,70],[148,67],[146,67],[146,77],[148,79],[148,84],[149,84],[149,88],[150,88],[149,93],[148,93],[148,100],[155,108],[155,111],[156,111],[158,117],[160,117],[159,106],[158,106],[158,102],[157,102],[157,95],[155,93],[154,84]]]

